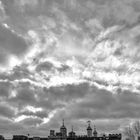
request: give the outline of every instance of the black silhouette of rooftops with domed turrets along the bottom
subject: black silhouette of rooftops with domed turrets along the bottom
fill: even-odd
[[[50,130],[49,136],[46,137],[30,137],[30,134],[27,135],[13,135],[12,140],[121,140],[121,134],[108,134],[108,135],[99,135],[94,125],[94,129],[91,127],[91,121],[87,121],[88,125],[85,128],[87,132],[86,135],[76,135],[76,132],[71,127],[71,131],[67,133],[67,127],[65,126],[64,119],[62,120],[62,125],[60,126],[60,131],[55,132],[55,130]],[[4,140],[4,137],[0,135],[0,140]]]

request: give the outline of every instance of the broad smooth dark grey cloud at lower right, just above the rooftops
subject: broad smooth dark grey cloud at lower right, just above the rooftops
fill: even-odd
[[[130,91],[112,95],[106,90],[95,89],[83,101],[74,107],[71,106],[68,114],[70,118],[76,117],[77,119],[139,118],[139,101],[140,95]]]

